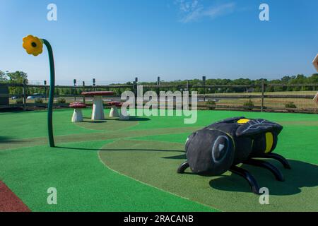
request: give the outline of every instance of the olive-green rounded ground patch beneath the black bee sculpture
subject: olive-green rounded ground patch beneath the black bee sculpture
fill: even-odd
[[[220,177],[199,177],[189,174],[189,169],[187,174],[177,174],[177,167],[185,159],[183,143],[152,141],[149,137],[144,141],[120,140],[104,145],[100,150],[100,158],[105,165],[122,174],[219,210],[318,210],[317,198],[312,198],[318,196],[317,165],[290,160],[293,170],[287,170],[271,161],[281,169],[285,182],[277,182],[264,169],[243,166],[257,178],[260,186],[269,188],[271,205],[260,205],[259,196],[250,192],[247,182],[230,172]]]

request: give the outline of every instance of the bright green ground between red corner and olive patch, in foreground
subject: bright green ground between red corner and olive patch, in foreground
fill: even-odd
[[[1,152],[1,177],[33,211],[213,210],[108,169],[97,156],[107,142]],[[57,205],[47,205],[49,187],[57,188]]]

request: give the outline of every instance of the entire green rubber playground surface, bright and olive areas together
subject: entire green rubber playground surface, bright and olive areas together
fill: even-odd
[[[184,117],[131,117],[130,121],[71,123],[71,109],[54,110],[57,148],[47,144],[47,112],[0,113],[0,181],[33,211],[318,211],[318,115],[198,111]],[[109,113],[105,109],[105,115]],[[242,165],[269,189],[261,205],[247,182],[226,172],[219,177],[177,174],[189,133],[228,117],[264,118],[284,126],[275,150],[292,169],[285,176]],[[57,189],[57,205],[47,189]]]

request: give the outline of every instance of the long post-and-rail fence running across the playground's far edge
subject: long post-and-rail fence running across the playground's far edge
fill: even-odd
[[[136,94],[138,79],[126,85],[57,85],[54,94],[54,105],[66,107],[70,102],[81,101],[90,105],[92,99],[81,95],[84,91],[111,90],[115,95],[105,97],[104,101],[120,100],[120,95],[125,90]],[[259,85],[190,85],[160,84],[143,85],[143,93],[153,90],[171,90],[198,92],[199,109],[235,109],[261,112],[318,112],[318,105],[313,98],[318,92],[318,84],[271,84]],[[28,98],[34,93],[40,93],[41,98]],[[8,107],[46,107],[49,85],[28,85],[26,83],[0,83],[0,109]],[[36,97],[36,95],[35,95]],[[41,99],[41,100],[39,100]]]

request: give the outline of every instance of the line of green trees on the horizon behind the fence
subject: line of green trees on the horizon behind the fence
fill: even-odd
[[[15,72],[4,72],[0,70],[0,83],[23,83],[25,81],[28,84],[28,74],[23,71]],[[266,78],[249,79],[249,78],[238,78],[238,79],[221,79],[221,78],[208,78],[206,79],[206,85],[229,85],[228,87],[216,87],[216,88],[191,88],[192,91],[196,90],[198,93],[246,93],[246,92],[261,92],[261,83],[264,81],[266,85],[266,92],[277,92],[277,91],[310,91],[317,90],[317,87],[309,86],[307,84],[318,84],[318,73],[314,73],[311,76],[305,76],[298,74],[296,76],[283,76],[280,79],[267,80]],[[177,81],[160,81],[160,85],[175,85],[173,88],[160,88],[161,91],[176,91],[183,90],[187,83],[191,85],[202,85],[201,79],[191,80],[177,80]],[[155,85],[157,82],[139,82],[139,85]],[[271,84],[285,84],[284,86],[271,86]],[[120,95],[125,90],[132,91],[132,82],[127,83],[112,83],[110,85],[131,85],[131,88],[110,88],[115,95]],[[253,88],[248,87],[232,87],[230,85],[253,85]],[[297,85],[297,86],[288,86]],[[103,90],[98,88],[98,85],[94,90]],[[104,89],[105,90],[105,89]],[[155,88],[144,88],[144,92],[148,90],[157,91]],[[81,86],[78,88],[57,88],[55,89],[55,95],[80,95],[83,89]],[[9,92],[11,95],[21,95],[22,88],[10,87]],[[48,89],[47,89],[48,92]],[[28,94],[33,93],[45,93],[44,88],[28,87]]]

